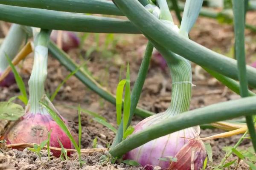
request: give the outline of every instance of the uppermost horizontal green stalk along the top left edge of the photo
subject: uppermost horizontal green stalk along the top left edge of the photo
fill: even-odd
[[[0,0],[0,4],[87,14],[122,15],[108,0]]]

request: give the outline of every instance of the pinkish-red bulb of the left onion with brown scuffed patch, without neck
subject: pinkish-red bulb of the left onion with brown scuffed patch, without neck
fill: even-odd
[[[64,120],[67,124],[67,121]],[[58,124],[51,118],[50,115],[43,115],[40,113],[31,114],[26,113],[25,116],[6,133],[5,139],[7,144],[17,143],[37,143],[40,144],[44,140],[48,139],[48,132],[52,129],[50,146],[61,147],[58,143],[58,139],[63,144],[64,148],[73,149],[73,144],[70,139],[64,133]],[[73,137],[77,140],[76,133],[71,131]],[[51,150],[54,156],[60,156],[61,152]],[[70,153],[69,153],[70,154]]]

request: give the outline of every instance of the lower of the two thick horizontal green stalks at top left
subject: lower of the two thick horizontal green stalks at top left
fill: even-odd
[[[44,29],[140,34],[128,20],[38,8],[0,5],[0,20]]]

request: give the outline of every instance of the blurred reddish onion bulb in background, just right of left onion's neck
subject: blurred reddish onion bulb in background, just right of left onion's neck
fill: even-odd
[[[58,31],[52,31],[51,40],[55,43],[57,42]],[[76,33],[70,31],[62,32],[62,49],[67,52],[72,48],[78,48],[80,44],[80,40],[77,37]]]

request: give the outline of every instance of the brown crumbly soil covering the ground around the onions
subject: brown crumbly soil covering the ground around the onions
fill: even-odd
[[[247,20],[250,23],[255,22],[255,13],[249,13]],[[229,25],[219,24],[215,20],[200,17],[196,26],[192,29],[190,37],[192,40],[206,46],[219,53],[232,56],[233,46],[233,28]],[[100,35],[100,44],[104,43],[105,35]],[[102,51],[94,51],[90,57],[86,57],[86,51],[95,45],[93,35],[85,41],[81,49],[69,51],[70,56],[79,63],[87,60],[87,70],[92,73],[93,77],[111,93],[115,94],[116,85],[119,80],[119,67],[130,62],[131,71],[131,86],[137,76],[137,71],[140,66],[143,54],[143,46],[147,40],[142,35],[115,35],[117,44],[114,47],[109,47],[108,50],[112,52],[111,56]],[[256,60],[256,37],[250,31],[246,31],[246,49],[247,62]],[[100,47],[102,48],[102,46]],[[108,56],[108,57],[107,57]],[[20,65],[19,70],[25,81],[26,87],[29,75],[32,69],[33,55],[30,55]],[[232,99],[238,99],[239,96],[233,94],[216,79],[210,77],[203,69],[192,64],[193,67],[193,84],[196,86],[192,91],[191,109],[204,107],[217,102],[223,102]],[[59,64],[58,61],[49,57],[48,62],[48,77],[46,82],[47,93],[52,94],[58,84],[69,74],[69,72]],[[123,73],[123,76],[125,73]],[[10,97],[18,95],[19,90],[17,85],[12,85],[9,88],[0,88],[0,101],[6,101]],[[140,97],[139,105],[142,108],[153,111],[155,113],[164,111],[171,101],[171,79],[167,68],[160,68],[156,59],[152,59],[148,76],[143,87],[143,92]],[[19,100],[15,102],[22,105]],[[90,91],[86,86],[79,82],[76,77],[71,77],[61,88],[55,98],[54,105],[58,111],[70,121],[70,126],[78,131],[77,125],[77,111],[66,108],[66,105],[78,106],[90,111],[94,111],[104,116],[108,122],[116,127],[115,106],[111,105],[104,99],[101,99],[97,94]],[[83,114],[82,116],[82,147],[91,148],[93,139],[97,137],[97,147],[107,147],[113,141],[114,133],[107,127],[104,127],[97,122],[94,122],[93,117]],[[133,125],[136,125],[141,118],[135,116]],[[7,122],[0,122],[0,132],[4,131]],[[211,136],[216,133],[223,132],[217,129],[207,129],[201,131],[201,137]],[[1,135],[0,134],[0,135]],[[240,136],[233,136],[225,139],[215,139],[210,142],[213,152],[213,164],[218,164],[224,157],[225,152],[222,151],[224,146],[233,146]],[[244,140],[241,148],[251,146],[249,140]],[[79,162],[76,154],[72,155],[69,160],[61,161],[60,158],[51,158],[48,161],[47,153],[42,151],[41,161],[35,153],[25,149],[23,151],[9,150],[6,153],[0,153],[0,170],[77,170],[79,169]],[[232,157],[231,157],[232,158]],[[230,158],[230,159],[231,159]],[[111,160],[105,157],[102,153],[93,153],[83,155],[82,170],[116,170],[128,169],[139,170],[142,167],[131,167],[123,163],[111,164]],[[230,167],[235,169],[236,167]],[[212,167],[209,164],[208,170]],[[240,162],[237,170],[249,169],[244,162]]]

